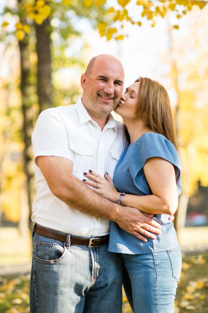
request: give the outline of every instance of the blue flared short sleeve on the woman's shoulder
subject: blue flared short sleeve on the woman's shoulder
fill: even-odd
[[[129,171],[135,184],[139,179],[141,169],[146,160],[151,157],[161,157],[172,163],[176,174],[178,194],[181,192],[181,160],[176,147],[166,137],[157,133],[143,134],[135,143],[129,156]],[[138,186],[139,187],[139,186]],[[140,188],[139,188],[140,189]],[[142,190],[141,190],[142,191]]]

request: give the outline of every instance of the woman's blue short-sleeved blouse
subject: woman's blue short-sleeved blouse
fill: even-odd
[[[178,195],[181,193],[181,160],[175,146],[165,136],[145,133],[123,151],[117,163],[113,183],[119,192],[138,196],[151,195],[143,166],[150,157],[161,157],[173,164]],[[153,219],[161,224],[161,235],[157,239],[147,238],[143,242],[111,222],[108,250],[126,254],[146,254],[173,249],[179,246],[173,222],[167,214],[155,214]]]

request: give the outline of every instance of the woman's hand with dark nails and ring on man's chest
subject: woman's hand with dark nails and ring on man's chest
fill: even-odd
[[[101,177],[97,173],[89,170],[88,173],[84,172],[84,176],[86,178],[91,179],[83,179],[83,182],[89,186],[94,187],[92,190],[98,193],[103,198],[110,200],[111,202],[117,203],[120,192],[116,190],[113,185],[112,179],[108,176],[107,172],[105,172],[105,178]],[[99,184],[96,188],[97,183]]]

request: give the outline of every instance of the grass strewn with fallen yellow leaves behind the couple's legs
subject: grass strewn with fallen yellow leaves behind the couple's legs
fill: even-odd
[[[175,313],[208,313],[208,254],[186,256],[179,281]],[[29,275],[0,278],[0,313],[29,313]],[[131,313],[123,295],[122,313]]]

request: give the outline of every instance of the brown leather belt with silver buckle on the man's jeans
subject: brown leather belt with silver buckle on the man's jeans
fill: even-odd
[[[59,240],[62,242],[67,242],[67,234],[64,235],[62,233],[58,233],[52,229],[47,229],[37,224],[35,225],[34,232],[37,233],[37,235]],[[70,244],[79,244],[82,246],[88,246],[88,248],[100,247],[103,244],[106,244],[108,242],[109,242],[109,235],[105,235],[105,236],[101,236],[97,238],[90,238],[90,239],[70,236]]]

